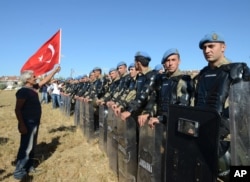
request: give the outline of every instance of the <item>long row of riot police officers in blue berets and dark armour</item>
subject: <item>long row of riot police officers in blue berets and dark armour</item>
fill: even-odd
[[[180,53],[175,48],[169,49],[164,53],[161,64],[164,66],[165,72],[162,74],[149,67],[151,58],[147,53],[137,52],[134,56],[134,63],[128,67],[125,62],[120,62],[116,68],[111,68],[109,74],[104,76],[102,75],[101,68],[95,67],[89,73],[89,77],[83,75],[76,80],[68,80],[62,94],[72,98],[72,112],[74,108],[80,108],[75,107],[75,104],[77,104],[76,101],[93,104],[94,130],[96,132],[99,129],[98,108],[101,105],[108,107],[109,111],[112,110],[114,115],[124,123],[128,118],[133,118],[137,124],[137,147],[140,143],[140,128],[145,126],[155,129],[159,124],[163,125],[165,130],[162,130],[162,132],[166,134],[164,141],[170,140],[171,136],[168,134],[171,127],[169,116],[171,114],[179,114],[169,112],[169,107],[172,105],[178,105],[181,109],[189,109],[191,113],[193,112],[192,108],[199,108],[202,111],[206,111],[206,109],[208,109],[207,111],[216,111],[220,116],[216,121],[218,132],[216,132],[216,128],[215,131],[208,131],[208,135],[211,135],[211,138],[214,135],[216,136],[216,140],[218,140],[217,144],[214,145],[217,159],[213,160],[216,166],[212,166],[214,168],[212,170],[216,172],[216,178],[208,177],[205,179],[196,177],[191,181],[228,181],[230,175],[229,90],[234,83],[242,80],[249,81],[250,71],[245,63],[230,63],[228,61],[224,55],[226,49],[225,41],[221,35],[215,32],[206,34],[201,39],[199,48],[203,51],[208,65],[194,77],[184,74],[179,70],[181,62]],[[79,113],[76,109],[74,112]],[[202,117],[206,119],[206,115]],[[196,131],[198,127],[196,126],[196,122],[187,122],[185,119],[178,122],[178,131],[180,133],[194,138],[199,135]],[[200,129],[201,131],[203,130]],[[193,141],[195,140],[197,139]],[[201,142],[206,141],[201,140]],[[171,148],[171,145],[168,146],[167,143],[165,147]],[[186,149],[188,150],[188,147]],[[167,161],[169,160],[168,157],[161,159]],[[209,163],[206,160],[202,162]],[[165,170],[168,169],[166,163],[162,164]],[[172,165],[175,165],[175,163],[178,164],[178,159],[173,163]],[[196,164],[198,164],[197,161]],[[172,171],[172,173],[174,172]],[[154,180],[181,181],[182,178],[179,178],[178,175],[185,176],[185,173],[177,173],[177,176],[171,178],[171,180],[166,174],[161,176],[161,179]],[[189,180],[189,178],[186,178],[186,181]],[[137,181],[140,180],[137,179]]]

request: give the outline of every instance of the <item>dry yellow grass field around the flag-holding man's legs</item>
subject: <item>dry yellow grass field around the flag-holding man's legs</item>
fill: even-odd
[[[14,114],[15,91],[0,91],[0,181],[17,181],[12,173],[20,135]],[[42,173],[22,181],[116,182],[106,154],[98,141],[88,143],[73,117],[66,117],[51,104],[43,104],[36,160]]]

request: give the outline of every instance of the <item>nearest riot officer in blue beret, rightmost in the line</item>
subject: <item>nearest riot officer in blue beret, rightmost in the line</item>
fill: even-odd
[[[216,32],[206,34],[200,40],[199,48],[208,65],[194,79],[196,83],[194,105],[215,109],[221,115],[218,178],[229,181],[229,90],[234,82],[247,77],[249,68],[245,63],[230,63],[225,57],[225,40]]]

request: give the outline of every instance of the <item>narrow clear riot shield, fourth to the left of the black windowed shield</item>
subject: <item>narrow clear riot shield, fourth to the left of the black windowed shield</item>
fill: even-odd
[[[99,106],[99,148],[105,153],[107,153],[107,116],[107,106]]]

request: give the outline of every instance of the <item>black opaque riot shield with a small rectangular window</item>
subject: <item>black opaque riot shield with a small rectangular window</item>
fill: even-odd
[[[215,182],[220,116],[214,110],[170,105],[166,181]]]

